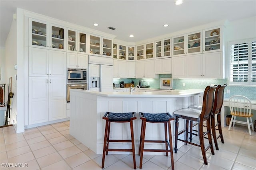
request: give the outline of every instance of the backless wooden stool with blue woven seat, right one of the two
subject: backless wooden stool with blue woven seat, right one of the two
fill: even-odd
[[[172,169],[174,170],[174,160],[173,160],[173,152],[172,152],[172,130],[170,121],[174,120],[174,117],[170,115],[170,113],[142,113],[140,112],[141,123],[141,131],[140,131],[140,147],[139,147],[139,155],[140,155],[140,168],[142,168],[142,158],[143,152],[166,152],[166,156],[168,156],[168,152],[170,152]],[[164,134],[165,140],[145,140],[145,130],[146,130],[146,122],[150,123],[164,123]],[[167,139],[167,124],[168,124],[168,135],[169,142]],[[144,143],[165,143],[165,149],[144,149]],[[168,146],[170,149],[168,149]]]

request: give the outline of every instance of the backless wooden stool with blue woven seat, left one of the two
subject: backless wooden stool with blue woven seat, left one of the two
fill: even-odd
[[[106,112],[102,119],[106,120],[106,127],[105,127],[105,135],[104,135],[104,145],[103,145],[103,155],[102,155],[102,166],[104,168],[105,162],[105,154],[108,155],[108,151],[123,151],[123,152],[132,152],[133,156],[133,164],[134,169],[136,169],[136,160],[135,160],[135,147],[134,147],[134,133],[133,133],[133,123],[132,121],[136,119],[136,113],[112,113]],[[111,140],[109,139],[110,134],[110,123],[126,123],[130,122],[130,129],[131,129],[131,140]],[[132,149],[109,149],[108,145],[110,142],[131,142]]]

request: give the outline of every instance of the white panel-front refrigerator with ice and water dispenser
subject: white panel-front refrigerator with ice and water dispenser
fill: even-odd
[[[89,90],[113,92],[113,59],[89,56]]]

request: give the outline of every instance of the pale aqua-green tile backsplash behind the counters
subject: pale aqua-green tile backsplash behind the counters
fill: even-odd
[[[159,74],[159,78],[155,79],[139,79],[139,78],[126,78],[126,79],[113,79],[115,84],[119,84],[119,81],[124,83],[131,83],[134,81],[134,85],[139,84],[139,80],[147,81],[150,83],[150,88],[160,88],[160,78],[171,77],[171,74]],[[225,79],[173,79],[173,89],[204,89],[211,84],[227,84],[228,80]],[[183,86],[185,83],[185,86]],[[227,86],[224,92],[230,90],[230,94],[225,94],[225,98],[229,98],[233,95],[243,95],[250,100],[256,100],[256,87],[252,86]]]

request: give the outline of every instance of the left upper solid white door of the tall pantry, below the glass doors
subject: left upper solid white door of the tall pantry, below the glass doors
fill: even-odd
[[[49,75],[49,50],[29,48],[28,72],[29,76],[48,77]]]

